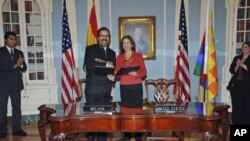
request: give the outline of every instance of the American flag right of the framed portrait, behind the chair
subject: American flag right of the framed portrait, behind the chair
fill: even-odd
[[[175,79],[180,83],[179,94],[181,100],[183,102],[189,102],[191,98],[188,63],[188,40],[184,0],[181,0],[178,40]],[[174,93],[176,92],[177,88],[174,87]]]

